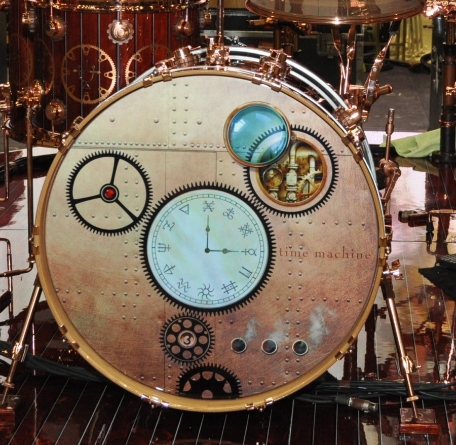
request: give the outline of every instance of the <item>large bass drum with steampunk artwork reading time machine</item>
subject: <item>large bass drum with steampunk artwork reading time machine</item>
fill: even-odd
[[[378,290],[367,164],[316,90],[256,75],[137,79],[70,132],[41,195],[36,262],[62,331],[157,405],[295,392],[343,356]]]

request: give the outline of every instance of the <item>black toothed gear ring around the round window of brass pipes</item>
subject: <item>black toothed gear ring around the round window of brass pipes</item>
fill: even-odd
[[[328,155],[329,160],[331,162],[332,172],[333,172],[332,176],[330,178],[328,178],[328,180],[330,181],[330,184],[329,184],[329,188],[326,191],[326,193],[318,201],[316,201],[314,205],[307,207],[304,210],[301,210],[300,206],[288,207],[285,205],[283,206],[283,208],[287,208],[290,210],[278,210],[277,208],[268,205],[268,203],[264,200],[264,197],[258,196],[258,194],[257,194],[256,190],[254,189],[253,184],[251,182],[249,167],[245,167],[245,169],[244,169],[244,179],[245,179],[246,187],[247,187],[248,191],[250,192],[250,195],[254,199],[254,202],[256,204],[258,204],[259,206],[261,206],[263,208],[267,208],[274,214],[280,215],[280,216],[303,216],[303,215],[312,213],[315,210],[321,208],[329,200],[331,195],[334,193],[334,190],[335,190],[335,187],[337,184],[337,180],[338,180],[338,175],[339,175],[338,171],[339,170],[338,170],[335,153],[334,153],[332,147],[329,145],[329,142],[321,134],[317,133],[314,130],[309,129],[308,127],[301,127],[300,125],[292,126],[291,130],[295,131],[295,132],[309,134],[312,137],[316,138],[325,147],[326,154]],[[272,134],[272,133],[270,133],[270,134]],[[263,135],[264,137],[263,136],[262,137],[263,138],[268,137],[270,134],[269,133],[264,134]],[[258,140],[255,141],[255,143],[259,143]]]

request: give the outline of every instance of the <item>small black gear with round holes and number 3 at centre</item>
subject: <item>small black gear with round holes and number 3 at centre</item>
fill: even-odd
[[[214,348],[212,327],[197,315],[174,315],[163,326],[160,343],[177,363],[198,363]]]

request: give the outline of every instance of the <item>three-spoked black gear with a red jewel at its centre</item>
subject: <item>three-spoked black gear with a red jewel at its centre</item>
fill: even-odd
[[[122,175],[122,179],[128,179],[121,180]],[[134,196],[124,192],[127,187],[134,190]],[[71,212],[83,226],[95,233],[118,235],[139,224],[150,207],[152,192],[144,168],[135,159],[122,152],[101,151],[85,157],[73,168],[66,196]],[[85,207],[88,202],[95,202],[96,206]],[[94,208],[98,215],[92,213]]]

